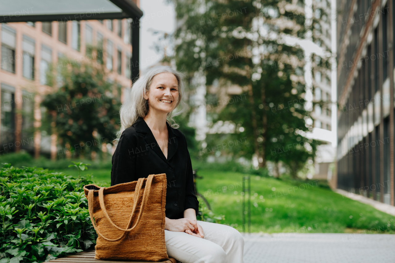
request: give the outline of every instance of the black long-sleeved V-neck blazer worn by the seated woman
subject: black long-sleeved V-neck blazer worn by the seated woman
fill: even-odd
[[[185,136],[167,122],[166,125],[169,132],[167,159],[143,118],[139,117],[122,132],[113,154],[111,186],[166,173],[166,217],[183,218],[188,208],[195,209],[198,215],[199,201]]]

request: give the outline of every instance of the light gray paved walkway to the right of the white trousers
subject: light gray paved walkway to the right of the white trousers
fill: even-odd
[[[394,263],[395,235],[242,234],[244,263]]]

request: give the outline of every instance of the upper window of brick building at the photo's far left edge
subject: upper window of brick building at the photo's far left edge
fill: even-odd
[[[3,24],[1,31],[1,68],[12,73],[15,73],[15,39],[16,31]]]

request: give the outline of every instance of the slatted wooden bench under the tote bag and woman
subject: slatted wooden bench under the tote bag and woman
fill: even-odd
[[[83,252],[79,252],[72,255],[67,255],[66,257],[60,257],[57,259],[53,259],[50,261],[46,261],[43,263],[52,262],[52,263],[150,263],[151,261],[115,261],[115,260],[100,260],[95,259],[95,250],[87,250]],[[162,263],[177,263],[177,261],[170,257],[165,261],[160,261]]]

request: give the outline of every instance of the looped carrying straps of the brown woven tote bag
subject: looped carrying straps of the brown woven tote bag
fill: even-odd
[[[120,240],[122,237],[124,237],[124,235],[125,235],[126,232],[130,232],[130,231],[132,231],[132,229],[134,229],[134,228],[136,227],[136,225],[140,222],[141,214],[142,214],[142,212],[143,212],[143,208],[145,207],[145,201],[146,201],[146,200],[148,199],[148,197],[149,197],[149,193],[150,193],[150,190],[151,190],[151,184],[152,184],[152,179],[153,179],[153,178],[154,178],[154,175],[149,175],[149,176],[148,176],[147,183],[146,183],[146,187],[145,187],[144,193],[143,193],[143,200],[142,200],[141,206],[140,206],[139,216],[137,217],[137,220],[136,220],[136,222],[135,222],[135,224],[134,224],[134,226],[133,226],[132,228],[129,228],[129,227],[130,227],[130,225],[131,225],[132,218],[133,218],[133,215],[134,215],[134,212],[135,212],[135,208],[136,208],[136,206],[137,206],[137,200],[138,200],[138,198],[139,198],[140,190],[141,190],[141,188],[142,188],[142,186],[143,186],[144,178],[139,178],[139,180],[137,181],[136,188],[135,188],[135,192],[134,192],[134,202],[133,202],[132,214],[130,215],[129,223],[128,223],[128,226],[126,227],[126,229],[122,229],[122,228],[118,227],[118,226],[115,225],[114,222],[111,220],[111,218],[109,217],[109,215],[108,215],[108,213],[107,213],[107,210],[105,209],[105,205],[104,205],[104,195],[103,195],[104,187],[101,187],[101,188],[99,189],[100,208],[103,210],[103,212],[104,212],[104,214],[105,214],[107,220],[109,220],[109,222],[110,222],[114,227],[116,227],[117,229],[124,231],[124,233],[123,233],[119,238],[117,238],[117,239],[107,239],[106,237],[104,237],[104,236],[98,231],[98,229],[97,229],[97,227],[96,227],[96,224],[95,224],[95,222],[94,222],[94,220],[93,220],[93,206],[92,206],[92,204],[93,204],[93,192],[94,192],[94,190],[89,190],[89,192],[88,192],[88,204],[89,204],[89,203],[91,204],[90,206],[88,205],[89,216],[90,216],[90,220],[92,221],[92,225],[93,225],[94,229],[96,230],[96,232],[98,233],[98,235],[100,235],[103,239],[108,240],[108,241],[117,241],[117,240]]]

